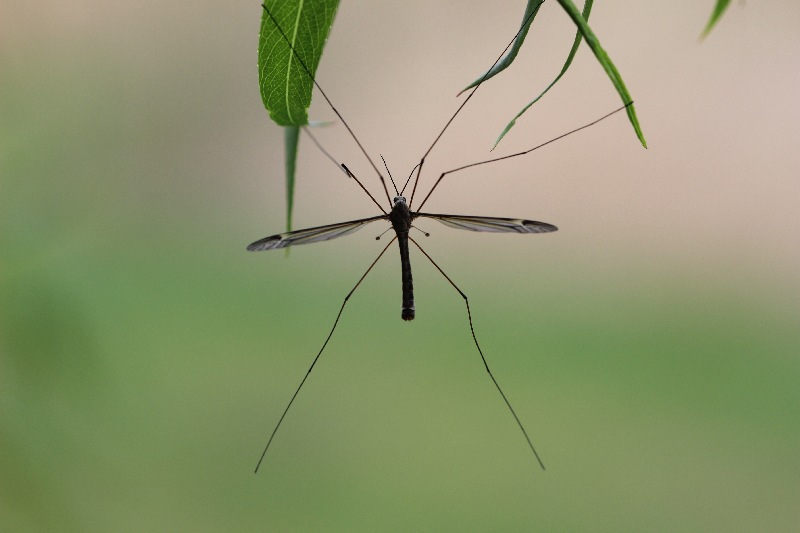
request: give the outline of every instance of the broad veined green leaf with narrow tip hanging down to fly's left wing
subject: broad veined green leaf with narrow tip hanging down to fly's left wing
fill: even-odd
[[[300,126],[308,124],[313,77],[339,0],[267,0],[258,39],[261,100],[284,131],[286,231],[292,228]]]

